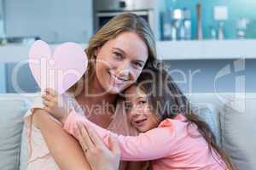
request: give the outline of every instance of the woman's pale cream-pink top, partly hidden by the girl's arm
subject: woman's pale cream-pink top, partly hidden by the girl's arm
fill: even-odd
[[[64,97],[69,98],[73,105],[73,108],[81,112],[83,111],[82,107],[78,104],[73,94],[66,93],[63,94]],[[24,116],[24,122],[26,126],[26,137],[27,137],[27,170],[59,170],[60,168],[55,163],[53,157],[49,154],[48,147],[44,141],[44,137],[40,130],[35,127],[32,123],[32,114],[34,108],[43,108],[41,94],[38,93],[38,96],[35,96],[32,99],[31,109],[26,111]],[[83,111],[84,112],[84,111]],[[53,118],[54,119],[54,118]],[[56,119],[55,122],[60,123]],[[113,121],[109,124],[108,130],[113,131],[114,133],[119,133],[123,135],[137,135],[137,131],[130,126],[127,116],[125,114],[124,103],[122,99],[118,99],[116,110],[113,115]],[[127,166],[127,161],[121,161],[119,170],[124,170]]]

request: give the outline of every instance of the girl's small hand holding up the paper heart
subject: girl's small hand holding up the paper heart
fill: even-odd
[[[57,94],[57,92],[51,88],[45,89],[45,94],[42,98],[44,110],[64,123],[71,109],[67,99],[64,99],[63,95]]]

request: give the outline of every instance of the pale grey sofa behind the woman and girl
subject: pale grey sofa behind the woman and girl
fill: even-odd
[[[256,94],[186,94],[238,169],[256,169]],[[26,170],[23,116],[35,94],[0,94],[0,169]]]

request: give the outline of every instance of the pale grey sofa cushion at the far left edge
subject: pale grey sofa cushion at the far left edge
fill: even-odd
[[[20,140],[27,102],[18,95],[4,94],[0,108],[0,169],[16,170],[20,166]]]

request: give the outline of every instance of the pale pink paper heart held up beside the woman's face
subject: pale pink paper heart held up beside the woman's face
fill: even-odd
[[[62,43],[52,55],[49,45],[38,40],[29,51],[29,67],[42,91],[53,88],[63,94],[84,75],[87,65],[84,49],[74,42]]]

